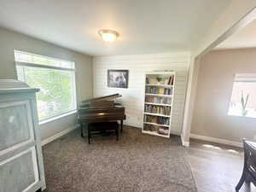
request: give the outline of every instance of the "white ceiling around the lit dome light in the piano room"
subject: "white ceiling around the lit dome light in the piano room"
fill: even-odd
[[[0,0],[0,26],[88,55],[189,50],[230,0]],[[102,28],[120,36],[106,44]]]

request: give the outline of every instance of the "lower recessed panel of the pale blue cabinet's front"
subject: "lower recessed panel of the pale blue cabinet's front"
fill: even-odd
[[[28,192],[38,183],[35,147],[0,162],[0,192]]]

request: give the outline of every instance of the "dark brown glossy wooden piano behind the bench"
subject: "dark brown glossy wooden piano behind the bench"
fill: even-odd
[[[81,137],[84,137],[84,125],[97,122],[108,122],[120,120],[121,131],[123,131],[123,120],[125,119],[125,108],[113,100],[120,97],[119,94],[101,96],[85,100],[79,105],[79,124]]]

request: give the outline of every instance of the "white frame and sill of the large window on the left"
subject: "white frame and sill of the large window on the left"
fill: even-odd
[[[38,124],[39,125],[44,125],[46,123],[49,123],[51,121],[54,121],[56,119],[61,119],[63,117],[66,117],[68,115],[71,115],[73,113],[77,113],[78,110],[78,102],[77,102],[77,88],[76,88],[76,69],[75,69],[75,62],[74,61],[65,61],[65,60],[61,60],[55,57],[49,57],[49,56],[44,56],[44,55],[37,55],[37,54],[33,54],[33,53],[29,53],[29,52],[25,52],[25,51],[20,51],[20,50],[14,50],[15,54],[16,53],[21,53],[21,54],[26,54],[26,55],[35,55],[41,58],[45,58],[45,59],[49,59],[49,60],[55,60],[55,61],[63,61],[63,62],[70,62],[73,64],[73,67],[71,68],[67,68],[67,67],[55,67],[55,66],[48,66],[48,65],[44,65],[44,64],[36,64],[36,63],[32,63],[32,62],[21,62],[21,61],[16,61],[15,58],[15,68],[16,68],[16,77],[18,79],[18,69],[17,66],[20,67],[35,67],[35,68],[45,68],[45,69],[52,69],[52,70],[59,70],[59,71],[68,71],[72,73],[72,86],[73,86],[73,102],[74,102],[74,108],[71,110],[68,110],[65,113],[59,113],[53,116],[50,116],[49,118],[45,118],[45,119],[38,119]]]

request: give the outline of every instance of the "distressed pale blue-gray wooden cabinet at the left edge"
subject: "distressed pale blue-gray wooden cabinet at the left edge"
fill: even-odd
[[[0,80],[0,192],[45,189],[37,91],[20,81]]]

